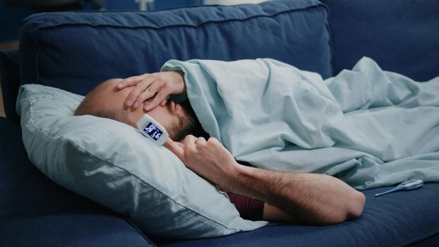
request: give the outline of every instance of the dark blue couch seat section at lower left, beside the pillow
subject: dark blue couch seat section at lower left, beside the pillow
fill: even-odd
[[[1,246],[152,246],[130,222],[61,188],[30,163],[20,128],[0,118]]]

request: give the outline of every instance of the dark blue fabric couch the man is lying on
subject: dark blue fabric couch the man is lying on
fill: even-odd
[[[439,76],[438,13],[431,0],[295,0],[26,18],[20,51],[0,52],[7,115],[0,118],[0,246],[439,246],[439,183],[382,198],[373,195],[387,188],[363,191],[363,215],[332,226],[270,224],[215,239],[146,236],[124,215],[40,173],[15,112],[20,84],[85,95],[104,79],[157,71],[168,59],[271,57],[327,78],[369,56],[428,80]]]

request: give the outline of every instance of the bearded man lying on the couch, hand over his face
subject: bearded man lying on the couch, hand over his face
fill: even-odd
[[[136,128],[138,119],[149,114],[167,129],[169,140],[164,146],[186,167],[227,191],[235,205],[245,200],[252,209],[261,202],[253,208],[260,210],[259,217],[251,219],[338,224],[361,215],[365,203],[363,193],[339,179],[241,165],[217,139],[190,135],[199,125],[190,104],[168,100],[169,95],[185,91],[184,76],[179,71],[111,79],[92,90],[75,115],[92,114]],[[235,195],[243,196],[236,199]],[[242,211],[241,208],[241,215]]]

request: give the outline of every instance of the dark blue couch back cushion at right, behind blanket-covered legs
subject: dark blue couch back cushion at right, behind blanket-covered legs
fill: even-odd
[[[322,1],[330,9],[335,73],[368,56],[414,80],[439,76],[439,1]]]

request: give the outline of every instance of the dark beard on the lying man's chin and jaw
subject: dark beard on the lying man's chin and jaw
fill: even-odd
[[[177,123],[172,124],[168,130],[169,138],[178,142],[183,140],[186,135],[193,133],[196,127],[200,125],[189,100],[185,100],[180,105],[183,114],[178,115]],[[171,104],[169,104],[168,107],[170,109]]]

